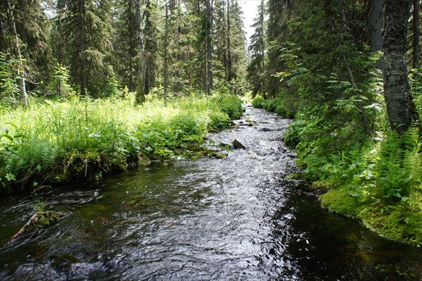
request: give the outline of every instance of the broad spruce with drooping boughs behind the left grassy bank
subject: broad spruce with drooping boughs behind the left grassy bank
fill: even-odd
[[[110,64],[109,0],[59,0],[58,11],[61,19],[61,36],[67,40],[67,49],[73,82],[79,85],[82,95],[87,91],[92,96],[101,96],[104,85],[113,77]]]

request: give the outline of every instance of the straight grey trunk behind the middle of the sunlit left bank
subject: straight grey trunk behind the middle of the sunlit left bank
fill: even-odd
[[[143,104],[145,101],[145,73],[146,73],[146,59],[145,46],[143,44],[143,30],[142,30],[142,13],[141,1],[136,1],[136,28],[138,28],[138,51],[139,51],[139,65],[138,65],[138,81],[136,82],[136,104]]]

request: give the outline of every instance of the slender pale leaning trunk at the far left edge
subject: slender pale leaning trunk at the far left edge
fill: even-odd
[[[20,44],[18,33],[16,32],[15,18],[13,18],[13,9],[11,1],[6,0],[6,13],[8,17],[9,29],[13,37],[13,49],[15,49],[15,56],[18,58],[18,85],[19,85],[19,102],[23,106],[28,106],[28,97],[25,89],[25,68],[23,66],[22,56],[20,54]]]

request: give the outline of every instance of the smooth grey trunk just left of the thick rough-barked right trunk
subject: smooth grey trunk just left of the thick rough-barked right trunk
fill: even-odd
[[[370,12],[369,18],[371,22],[371,51],[376,53],[383,50],[383,0],[369,1]],[[378,69],[383,69],[382,59],[376,63]]]

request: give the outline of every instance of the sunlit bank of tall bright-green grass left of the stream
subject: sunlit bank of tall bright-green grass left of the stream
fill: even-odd
[[[41,185],[99,180],[164,158],[206,154],[207,132],[222,130],[243,109],[236,96],[32,101],[1,108],[0,194]]]

